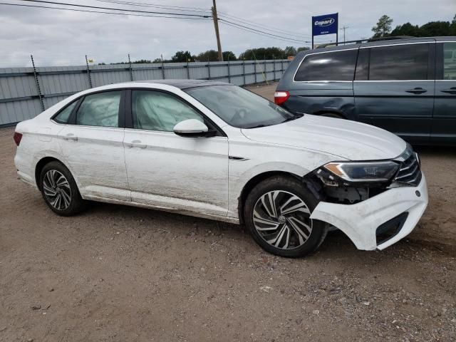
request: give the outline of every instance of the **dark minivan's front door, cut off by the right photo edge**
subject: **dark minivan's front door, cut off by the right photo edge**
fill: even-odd
[[[456,41],[437,43],[431,142],[456,143]]]

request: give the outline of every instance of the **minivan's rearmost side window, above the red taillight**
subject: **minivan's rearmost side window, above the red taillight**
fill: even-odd
[[[353,81],[358,49],[307,55],[294,81]]]

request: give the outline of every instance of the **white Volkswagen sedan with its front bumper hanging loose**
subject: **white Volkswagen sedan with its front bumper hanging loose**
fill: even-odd
[[[358,249],[384,249],[427,206],[402,139],[221,82],[93,88],[19,123],[14,140],[19,178],[57,214],[92,200],[241,223],[283,257],[314,251],[334,228]]]

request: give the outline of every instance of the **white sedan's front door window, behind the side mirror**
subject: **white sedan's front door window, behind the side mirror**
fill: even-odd
[[[177,123],[188,119],[204,121],[197,110],[175,96],[152,90],[132,92],[133,128],[172,132]]]

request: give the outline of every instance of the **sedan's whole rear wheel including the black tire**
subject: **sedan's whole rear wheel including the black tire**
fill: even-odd
[[[85,208],[71,172],[61,162],[44,165],[39,182],[44,202],[56,214],[72,216]]]

